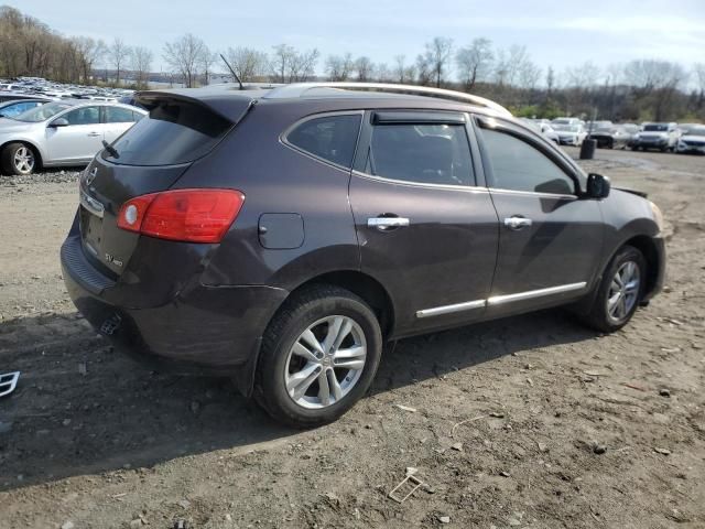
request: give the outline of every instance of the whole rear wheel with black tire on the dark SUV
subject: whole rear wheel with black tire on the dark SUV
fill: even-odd
[[[345,289],[314,285],[289,300],[270,323],[256,375],[256,398],[295,428],[335,421],[368,390],[382,333],[367,303]]]

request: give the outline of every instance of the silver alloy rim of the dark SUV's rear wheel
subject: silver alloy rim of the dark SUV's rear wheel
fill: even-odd
[[[284,382],[302,408],[340,401],[360,379],[367,357],[365,333],[348,316],[333,315],[310,325],[291,347]]]

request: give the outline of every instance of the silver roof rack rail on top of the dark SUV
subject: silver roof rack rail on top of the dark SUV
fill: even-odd
[[[339,88],[339,89],[358,89],[372,91],[390,91],[402,94],[414,94],[419,96],[431,96],[441,99],[451,99],[455,101],[469,102],[478,107],[485,107],[496,110],[505,116],[511,116],[511,112],[501,105],[490,101],[484,97],[473,96],[463,91],[446,90],[445,88],[433,88],[430,86],[414,85],[397,85],[392,83],[349,83],[349,82],[315,82],[315,83],[292,83],[274,88],[263,96],[264,99],[285,99],[302,97],[306,91],[314,88]]]

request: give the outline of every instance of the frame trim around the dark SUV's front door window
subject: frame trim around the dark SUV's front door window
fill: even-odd
[[[491,118],[491,119],[492,119],[492,122],[490,123],[490,121],[488,121],[487,118],[485,117],[474,116],[473,122],[475,123],[475,127],[477,127],[477,129],[480,129],[480,130],[488,129],[488,130],[496,130],[498,132],[503,132],[536,149],[539,152],[545,155],[549,160],[551,160],[561,171],[563,171],[563,173],[565,173],[566,176],[568,176],[573,181],[573,184],[575,186],[575,193],[571,195],[565,195],[565,194],[555,194],[555,193],[540,193],[535,191],[518,191],[518,190],[506,190],[502,187],[495,187],[492,185],[492,180],[494,180],[492,164],[489,161],[489,154],[487,153],[487,148],[485,147],[485,143],[482,141],[482,134],[476,133],[476,140],[479,145],[480,156],[482,159],[485,183],[488,188],[494,191],[507,192],[507,193],[530,194],[530,195],[541,195],[541,196],[579,197],[583,194],[584,190],[581,187],[579,179],[575,175],[574,168],[565,163],[565,161],[562,160],[560,156],[557,156],[554,152],[551,152],[551,150],[546,148],[546,145],[541,144],[540,141],[536,141],[530,136],[521,132],[518,128],[514,128],[509,123],[505,123],[503,121],[500,121],[498,118]]]

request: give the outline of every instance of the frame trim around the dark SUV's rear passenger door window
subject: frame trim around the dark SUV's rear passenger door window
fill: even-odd
[[[397,180],[390,179],[386,176],[380,176],[376,174],[370,174],[366,171],[368,165],[368,159],[371,155],[370,149],[372,145],[372,130],[375,129],[375,116],[379,112],[383,112],[386,115],[399,114],[403,115],[405,121],[384,121],[384,126],[393,125],[453,125],[456,127],[463,127],[465,130],[465,137],[468,143],[468,152],[470,155],[470,168],[473,170],[473,180],[475,181],[474,185],[451,185],[451,184],[434,184],[430,182],[411,182],[408,180]],[[421,115],[422,118],[419,120],[409,120],[411,115]],[[434,121],[430,122],[424,120],[424,115],[433,115],[436,117],[438,115],[446,114],[448,116],[453,116],[452,120],[443,120],[443,121]],[[460,120],[462,119],[462,120]],[[379,180],[382,182],[389,182],[393,184],[403,184],[403,185],[412,185],[416,187],[429,187],[429,188],[442,188],[442,190],[469,190],[469,191],[487,191],[487,187],[484,185],[485,172],[482,170],[481,161],[479,160],[479,150],[477,149],[477,134],[475,130],[471,129],[471,117],[468,116],[467,112],[458,111],[458,110],[421,110],[421,109],[376,109],[376,110],[367,110],[365,112],[365,117],[362,119],[362,127],[360,128],[360,137],[357,144],[357,151],[355,154],[355,160],[352,162],[352,172],[355,172],[359,176],[365,176],[367,179]],[[480,171],[478,172],[478,168]]]

